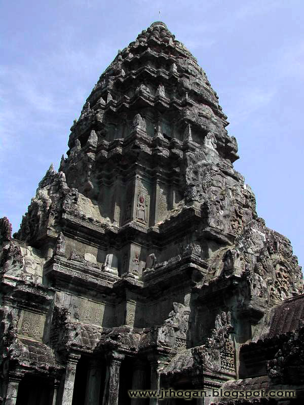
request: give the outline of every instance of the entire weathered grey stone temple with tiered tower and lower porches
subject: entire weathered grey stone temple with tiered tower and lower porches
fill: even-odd
[[[226,119],[163,22],[118,52],[19,231],[0,220],[3,403],[157,404],[128,390],[169,387],[303,396],[301,269],[234,170]]]

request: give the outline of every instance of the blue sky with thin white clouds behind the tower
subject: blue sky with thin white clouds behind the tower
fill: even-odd
[[[219,95],[258,215],[304,265],[302,0],[0,0],[0,217],[18,229],[99,75],[159,10]]]

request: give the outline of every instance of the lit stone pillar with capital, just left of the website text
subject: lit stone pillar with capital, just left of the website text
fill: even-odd
[[[120,366],[124,354],[112,352],[108,356],[102,405],[118,405]]]

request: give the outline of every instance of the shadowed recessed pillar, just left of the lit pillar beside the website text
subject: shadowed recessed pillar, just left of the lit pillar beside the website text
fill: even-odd
[[[85,405],[99,405],[101,384],[100,360],[92,359],[89,364]]]

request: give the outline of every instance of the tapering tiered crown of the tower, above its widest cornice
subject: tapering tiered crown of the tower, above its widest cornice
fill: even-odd
[[[236,142],[225,130],[227,117],[204,70],[162,21],[153,22],[119,50],[101,74],[71,128],[70,150],[77,140],[85,145],[92,129],[98,143],[125,139],[137,114],[149,137],[158,128],[157,134],[182,141],[190,125],[196,143],[202,144],[212,132],[223,156],[231,161],[238,158]]]

